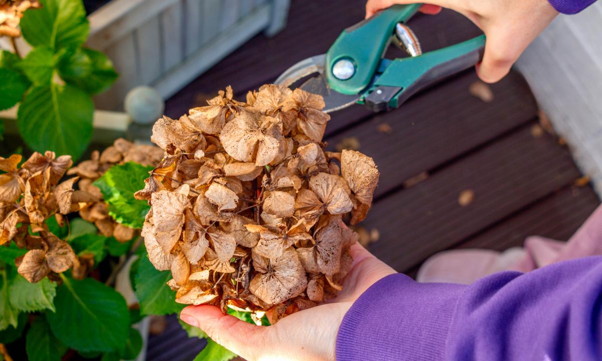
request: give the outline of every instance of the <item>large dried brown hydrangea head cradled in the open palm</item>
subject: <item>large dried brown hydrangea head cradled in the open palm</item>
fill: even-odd
[[[149,259],[176,301],[267,312],[271,322],[334,297],[352,264],[347,229],[365,218],[379,172],[353,150],[324,152],[321,96],[264,85],[220,91],[151,140],[165,150],[138,199]]]

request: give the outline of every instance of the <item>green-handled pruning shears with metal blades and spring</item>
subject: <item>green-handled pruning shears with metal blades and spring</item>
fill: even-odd
[[[482,60],[485,35],[423,54],[420,42],[406,25],[421,5],[393,5],[345,29],[326,54],[300,61],[275,83],[291,86],[317,73],[300,88],[321,94],[326,113],[355,103],[385,111],[398,108],[418,90]],[[383,58],[391,41],[410,56]]]

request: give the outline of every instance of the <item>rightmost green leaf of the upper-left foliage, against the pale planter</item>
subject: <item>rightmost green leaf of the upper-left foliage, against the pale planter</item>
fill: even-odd
[[[85,76],[61,74],[61,77],[81,90],[90,94],[98,94],[107,90],[119,78],[113,62],[101,52],[82,48],[81,52],[90,60],[90,72]]]

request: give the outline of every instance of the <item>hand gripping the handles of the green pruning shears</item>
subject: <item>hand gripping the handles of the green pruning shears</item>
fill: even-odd
[[[368,0],[366,17],[394,4],[411,0]],[[558,12],[548,0],[430,0],[423,13],[435,14],[440,7],[464,14],[485,32],[483,62],[477,73],[485,82],[497,82],[509,71],[524,49],[548,26]]]

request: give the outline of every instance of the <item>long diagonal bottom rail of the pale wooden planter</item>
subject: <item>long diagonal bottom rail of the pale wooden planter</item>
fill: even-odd
[[[164,99],[172,96],[191,78],[212,67],[223,57],[264,29],[270,22],[270,6],[263,5],[249,16],[244,17],[226,32],[218,35],[202,49],[188,57],[178,68],[164,75],[153,86],[157,88]]]

